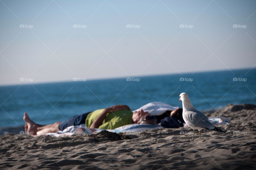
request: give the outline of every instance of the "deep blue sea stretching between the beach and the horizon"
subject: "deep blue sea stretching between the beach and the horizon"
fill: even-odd
[[[1,86],[0,128],[24,126],[24,112],[38,124],[52,124],[116,104],[131,110],[154,101],[182,107],[182,92],[204,112],[229,103],[256,104],[255,84],[256,69],[245,69]]]

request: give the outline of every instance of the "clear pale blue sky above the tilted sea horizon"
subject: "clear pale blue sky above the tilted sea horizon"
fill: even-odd
[[[256,1],[0,0],[0,85],[255,68]]]

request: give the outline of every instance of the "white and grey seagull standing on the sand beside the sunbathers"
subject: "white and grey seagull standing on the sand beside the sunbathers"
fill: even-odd
[[[178,102],[182,101],[182,117],[187,124],[187,126],[193,129],[193,138],[195,135],[195,129],[198,129],[199,136],[201,138],[201,130],[202,129],[209,129],[212,131],[218,131],[226,133],[227,131],[218,129],[216,126],[211,124],[207,116],[196,110],[193,105],[190,103],[189,96],[186,93],[181,93],[179,95]]]

